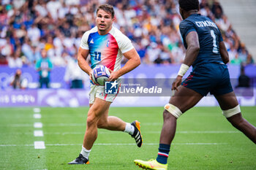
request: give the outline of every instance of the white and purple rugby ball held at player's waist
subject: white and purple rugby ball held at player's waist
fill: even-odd
[[[109,77],[110,72],[106,66],[97,65],[92,70],[91,78],[96,85],[105,85]]]

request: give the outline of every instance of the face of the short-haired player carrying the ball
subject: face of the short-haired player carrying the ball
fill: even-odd
[[[99,30],[99,34],[107,34],[108,31],[110,31],[112,28],[113,20],[114,19],[111,17],[110,13],[99,9],[96,17],[96,24]]]

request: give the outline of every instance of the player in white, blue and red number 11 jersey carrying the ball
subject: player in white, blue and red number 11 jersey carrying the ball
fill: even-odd
[[[112,26],[113,20],[113,7],[108,4],[99,6],[96,17],[97,26],[86,31],[81,39],[78,50],[78,64],[84,72],[89,74],[90,79],[92,69],[99,64],[112,70],[110,71],[109,81],[118,80],[118,77],[140,65],[140,57],[132,46],[132,42],[121,31]],[[91,55],[91,67],[86,61],[89,54]],[[128,61],[121,68],[122,55]],[[104,91],[104,86],[91,85],[91,92],[89,94],[90,109],[82,150],[78,158],[69,164],[89,163],[89,153],[97,139],[97,128],[105,128],[110,131],[124,131],[135,138],[138,147],[141,147],[143,143],[140,134],[140,123],[137,120],[132,123],[125,123],[118,117],[108,116],[108,109],[114,98],[116,98],[116,94],[105,94]]]

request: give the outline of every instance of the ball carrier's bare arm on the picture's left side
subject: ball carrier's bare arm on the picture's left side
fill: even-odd
[[[79,47],[78,49],[78,66],[83,70],[83,72],[86,72],[90,78],[91,78],[91,67],[89,66],[89,63],[87,63],[86,59],[89,55],[89,50],[83,49]]]

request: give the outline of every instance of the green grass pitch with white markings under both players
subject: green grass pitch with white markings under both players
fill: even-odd
[[[42,107],[40,119],[33,108],[0,109],[0,169],[139,169],[133,160],[156,158],[162,128],[162,107],[113,107],[109,115],[126,122],[139,120],[144,144],[135,145],[128,134],[99,129],[89,165],[68,165],[83,142],[88,107]],[[241,107],[256,125],[256,107]],[[41,122],[42,128],[34,128]],[[42,130],[44,136],[34,136]],[[256,169],[256,146],[233,128],[219,107],[195,107],[178,119],[168,169]],[[34,149],[44,141],[45,149]]]

